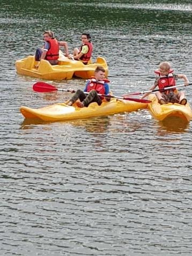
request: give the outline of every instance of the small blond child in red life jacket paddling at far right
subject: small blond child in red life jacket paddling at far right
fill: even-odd
[[[167,103],[179,103],[181,105],[187,104],[187,99],[184,98],[184,92],[178,92],[176,88],[171,90],[164,90],[166,87],[175,86],[176,80],[181,78],[184,80],[184,85],[187,86],[189,84],[188,78],[184,74],[174,74],[173,70],[171,69],[171,64],[167,61],[161,62],[159,65],[159,69],[154,71],[158,74],[154,85],[151,86],[150,90],[154,90],[156,86],[159,87],[158,92],[156,92],[156,96],[160,104],[167,104]],[[150,93],[145,93],[142,96],[142,99],[145,98]]]

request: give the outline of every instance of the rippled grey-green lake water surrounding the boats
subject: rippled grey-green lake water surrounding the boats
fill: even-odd
[[[191,81],[191,20],[191,1],[1,1],[1,255],[191,255],[191,123],[146,110],[27,122],[21,105],[70,95],[35,93],[14,68],[50,29],[71,53],[89,32],[116,95],[147,90],[165,60]]]

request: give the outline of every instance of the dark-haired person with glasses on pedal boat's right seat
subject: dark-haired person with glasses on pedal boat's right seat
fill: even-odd
[[[80,49],[75,48],[73,50],[73,58],[75,60],[82,61],[86,65],[91,58],[92,52],[93,52],[93,45],[91,42],[91,36],[90,34],[83,33],[82,46],[80,47]]]

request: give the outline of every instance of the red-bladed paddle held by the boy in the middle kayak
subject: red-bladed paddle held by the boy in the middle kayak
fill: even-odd
[[[75,90],[71,89],[62,89],[62,88],[56,88],[55,86],[51,84],[47,84],[45,82],[37,82],[33,85],[33,90],[36,92],[52,92],[52,91],[64,91],[64,92],[76,92]],[[88,92],[84,92],[88,94]],[[133,98],[128,98],[128,97],[116,97],[112,95],[106,95],[106,94],[100,94],[98,93],[99,96],[102,97],[108,97],[108,98],[115,98],[115,99],[124,99],[124,100],[131,100],[131,101],[136,101],[140,103],[151,103],[151,100],[145,100],[145,99],[133,99]]]

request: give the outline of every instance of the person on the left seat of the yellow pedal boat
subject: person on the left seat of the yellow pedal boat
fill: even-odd
[[[65,47],[65,55],[69,56],[68,43],[65,41],[58,42],[54,38],[52,31],[45,31],[43,33],[43,40],[45,41],[44,46],[36,50],[35,61],[47,60],[51,65],[56,65],[58,63],[60,46]],[[36,68],[38,68],[38,65]]]

